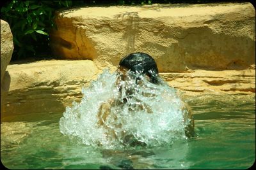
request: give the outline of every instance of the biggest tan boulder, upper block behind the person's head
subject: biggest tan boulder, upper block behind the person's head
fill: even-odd
[[[65,59],[117,66],[146,52],[161,72],[246,69],[255,64],[255,9],[250,3],[85,7],[56,14],[52,49]]]

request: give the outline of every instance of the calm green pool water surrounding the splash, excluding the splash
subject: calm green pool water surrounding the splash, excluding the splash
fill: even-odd
[[[255,95],[187,97],[195,137],[170,145],[107,150],[60,132],[63,113],[18,115],[1,124],[10,169],[246,169],[255,161]]]

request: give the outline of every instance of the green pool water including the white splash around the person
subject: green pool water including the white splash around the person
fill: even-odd
[[[64,113],[17,115],[11,122],[3,122],[4,166],[245,169],[254,163],[255,94],[186,97],[195,118],[195,136],[187,138],[184,127],[188,122],[183,117],[188,112],[181,109],[177,90],[154,85],[143,77],[138,84],[134,78],[120,81],[116,88],[116,78],[116,74],[105,71],[83,89],[81,103],[74,103]],[[104,125],[115,132],[116,138],[105,135],[108,131],[99,126],[97,115],[100,104],[112,98],[117,104],[111,105]],[[124,131],[145,145],[126,145]]]

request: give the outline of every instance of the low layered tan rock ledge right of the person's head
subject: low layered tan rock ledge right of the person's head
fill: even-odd
[[[168,85],[186,96],[201,94],[255,94],[255,65],[244,70],[207,71],[192,73],[161,73]]]

